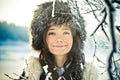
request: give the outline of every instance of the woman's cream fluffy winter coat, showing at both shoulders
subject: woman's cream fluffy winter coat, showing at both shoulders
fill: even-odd
[[[39,80],[40,75],[42,74],[42,68],[39,63],[39,58],[33,56],[29,57],[29,59],[27,60],[25,73],[25,76],[28,78],[28,80]],[[91,63],[85,64],[85,80],[97,80],[97,74],[97,69]]]

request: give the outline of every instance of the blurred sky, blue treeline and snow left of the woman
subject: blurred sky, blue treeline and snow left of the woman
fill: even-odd
[[[17,78],[32,54],[29,27],[36,5],[44,0],[0,0],[0,80],[4,74]]]

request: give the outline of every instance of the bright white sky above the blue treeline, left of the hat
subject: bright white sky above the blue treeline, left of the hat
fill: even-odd
[[[47,0],[0,0],[0,21],[29,26],[36,5]]]

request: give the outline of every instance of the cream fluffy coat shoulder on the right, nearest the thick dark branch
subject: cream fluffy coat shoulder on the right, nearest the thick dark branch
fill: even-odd
[[[85,64],[84,78],[85,80],[97,80],[98,70],[92,63]]]

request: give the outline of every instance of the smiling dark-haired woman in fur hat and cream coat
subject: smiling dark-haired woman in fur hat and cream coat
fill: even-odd
[[[54,7],[53,7],[54,6]],[[78,22],[76,22],[78,21]],[[84,20],[76,18],[67,3],[38,6],[31,23],[31,45],[39,58],[30,57],[22,78],[28,80],[96,80],[85,72]],[[96,74],[96,73],[95,73]]]

